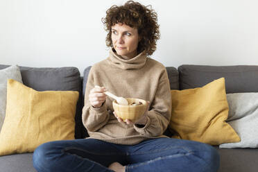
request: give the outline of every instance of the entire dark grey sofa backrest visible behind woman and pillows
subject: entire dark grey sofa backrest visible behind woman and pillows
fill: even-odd
[[[9,67],[0,65],[0,69]],[[82,123],[82,108],[84,105],[87,76],[91,67],[85,68],[83,78],[76,67],[36,68],[20,67],[24,85],[37,91],[74,90],[80,92],[76,110],[76,139],[87,137],[87,131]],[[226,92],[258,92],[258,66],[206,66],[181,65],[166,67],[171,89],[189,89],[202,87],[212,80],[224,77]],[[169,133],[168,133],[169,135]]]

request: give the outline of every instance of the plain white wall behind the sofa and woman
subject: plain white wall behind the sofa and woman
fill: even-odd
[[[114,0],[0,0],[0,64],[83,69],[107,58]],[[157,11],[165,66],[258,65],[258,1],[141,0]]]

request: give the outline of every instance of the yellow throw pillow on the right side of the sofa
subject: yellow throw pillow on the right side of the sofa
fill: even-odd
[[[225,122],[228,115],[225,78],[203,87],[171,90],[172,111],[169,128],[174,138],[219,145],[240,141]]]

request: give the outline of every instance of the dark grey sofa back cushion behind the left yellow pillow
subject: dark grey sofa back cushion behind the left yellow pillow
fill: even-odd
[[[0,65],[5,69],[9,65]],[[76,108],[76,130],[75,138],[82,137],[82,85],[80,72],[76,67],[19,67],[24,85],[37,91],[78,91],[80,93]]]

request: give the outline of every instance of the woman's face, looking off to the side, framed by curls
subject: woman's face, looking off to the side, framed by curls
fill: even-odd
[[[126,24],[115,24],[112,28],[112,44],[118,55],[124,59],[130,59],[137,55],[139,35],[137,28],[131,28]]]

